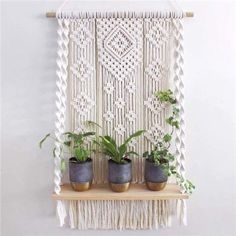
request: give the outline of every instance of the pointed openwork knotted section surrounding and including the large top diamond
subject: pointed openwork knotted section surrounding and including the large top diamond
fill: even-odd
[[[98,62],[116,80],[133,76],[142,63],[142,19],[98,19]]]

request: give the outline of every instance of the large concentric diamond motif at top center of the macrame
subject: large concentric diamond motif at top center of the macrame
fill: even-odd
[[[105,38],[106,50],[120,60],[134,47],[133,37],[121,26],[114,28]]]

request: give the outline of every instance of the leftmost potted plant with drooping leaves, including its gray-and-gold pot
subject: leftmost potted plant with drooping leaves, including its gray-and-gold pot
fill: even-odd
[[[95,123],[94,123],[95,124]],[[93,180],[93,161],[91,153],[93,152],[90,145],[86,145],[85,141],[89,136],[94,136],[95,132],[66,132],[63,133],[64,141],[62,144],[61,154],[68,150],[72,157],[69,158],[69,178],[72,188],[75,191],[85,191],[91,187]],[[51,137],[58,141],[55,137],[47,134],[39,143],[42,147],[43,142]],[[53,150],[55,156],[55,148]],[[62,158],[62,169],[65,169],[65,160]]]

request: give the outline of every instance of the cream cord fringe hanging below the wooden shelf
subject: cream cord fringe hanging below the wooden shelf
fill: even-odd
[[[174,200],[69,201],[69,226],[79,230],[170,227],[175,204]]]

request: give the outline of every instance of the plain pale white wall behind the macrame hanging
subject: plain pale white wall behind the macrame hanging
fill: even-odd
[[[41,151],[37,143],[54,128],[56,21],[43,13],[59,3],[1,4],[2,236],[120,235],[57,227],[52,145]],[[189,226],[124,236],[236,235],[236,4],[188,1],[182,7],[195,13],[184,24],[187,169],[197,186],[188,201]]]

